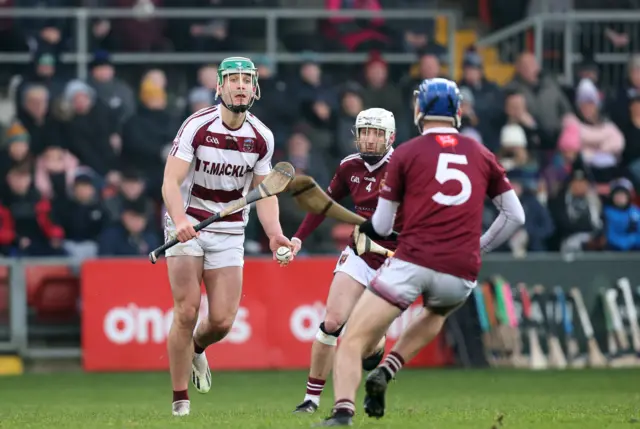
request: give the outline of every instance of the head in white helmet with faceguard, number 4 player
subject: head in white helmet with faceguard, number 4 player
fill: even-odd
[[[380,162],[396,139],[393,113],[379,107],[360,112],[353,128],[358,152],[369,165]]]

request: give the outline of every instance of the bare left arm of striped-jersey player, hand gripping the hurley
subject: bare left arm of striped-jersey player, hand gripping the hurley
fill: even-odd
[[[189,162],[169,155],[164,168],[162,182],[162,199],[171,220],[176,225],[177,238],[181,243],[198,235],[185,214],[184,202],[180,193],[180,186],[187,177],[190,166]]]

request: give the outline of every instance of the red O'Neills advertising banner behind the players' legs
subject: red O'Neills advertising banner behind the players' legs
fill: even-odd
[[[207,349],[214,369],[302,369],[324,317],[335,258],[296,259],[286,268],[267,259],[248,259],[233,329]],[[169,368],[167,335],[173,319],[164,261],[96,260],[82,269],[82,347],[88,371]],[[388,332],[391,348],[422,310],[415,304]],[[202,294],[200,318],[207,316]],[[347,327],[348,329],[348,327]],[[440,338],[410,366],[443,366],[451,351]]]

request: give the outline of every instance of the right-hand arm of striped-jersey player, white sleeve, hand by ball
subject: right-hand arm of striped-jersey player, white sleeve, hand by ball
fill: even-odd
[[[271,131],[266,130],[266,152],[258,162],[253,170],[252,187],[258,186],[267,174],[271,172],[271,157],[273,156],[274,140]],[[256,201],[256,211],[258,212],[258,220],[262,225],[267,237],[269,237],[269,248],[273,252],[273,258],[275,259],[275,252],[278,247],[286,246],[291,248],[291,242],[282,233],[282,226],[280,226],[280,206],[278,205],[278,198],[272,196]]]

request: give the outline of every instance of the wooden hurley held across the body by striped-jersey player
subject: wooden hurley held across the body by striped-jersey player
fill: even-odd
[[[285,191],[293,180],[294,174],[295,169],[288,162],[277,163],[273,167],[271,173],[269,173],[267,177],[264,178],[262,183],[249,191],[246,196],[235,201],[231,201],[229,205],[227,205],[227,207],[225,207],[225,209],[220,213],[216,213],[213,216],[203,220],[199,224],[195,225],[193,229],[198,232],[201,229],[204,229],[207,226],[211,225],[218,219],[228,216],[231,213],[236,212],[255,201],[259,201]],[[149,260],[152,264],[155,264],[158,261],[158,256],[160,256],[162,252],[175,246],[178,243],[179,240],[177,238],[173,238],[167,241],[162,246],[149,253]]]

